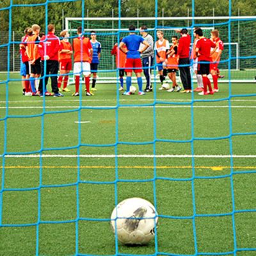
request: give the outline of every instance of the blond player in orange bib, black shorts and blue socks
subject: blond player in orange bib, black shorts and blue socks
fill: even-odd
[[[39,33],[40,26],[34,24],[32,27],[33,35],[29,36],[26,44],[26,51],[29,58],[29,63],[31,65],[31,74],[30,74],[30,85],[32,90],[32,95],[39,95],[39,92],[36,90],[35,81],[36,78],[40,77],[41,74],[41,56],[38,52],[38,45],[40,43]]]

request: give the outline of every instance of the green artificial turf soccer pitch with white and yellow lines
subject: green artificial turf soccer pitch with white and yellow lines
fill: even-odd
[[[255,84],[158,88],[40,98],[0,84],[1,256],[255,255]],[[115,243],[115,200],[131,197],[156,203],[157,243]]]

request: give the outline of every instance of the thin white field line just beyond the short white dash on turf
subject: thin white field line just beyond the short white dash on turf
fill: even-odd
[[[67,109],[67,108],[79,108],[79,106],[19,106],[10,107],[8,109]],[[116,108],[116,106],[83,106],[83,108]],[[191,106],[175,105],[175,106],[122,106],[119,108],[191,108]],[[229,106],[193,106],[193,108],[229,108]],[[256,106],[231,106],[231,108],[256,108]],[[0,109],[6,109],[6,107],[0,107]]]

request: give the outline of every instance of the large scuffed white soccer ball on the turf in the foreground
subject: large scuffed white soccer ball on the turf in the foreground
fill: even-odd
[[[128,198],[116,205],[111,214],[111,227],[124,244],[147,244],[155,236],[157,212],[143,198]]]

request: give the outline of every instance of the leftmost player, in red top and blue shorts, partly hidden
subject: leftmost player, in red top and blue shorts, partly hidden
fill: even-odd
[[[30,92],[30,86],[29,86],[30,67],[29,67],[28,54],[26,52],[26,40],[28,39],[29,31],[32,33],[31,28],[26,28],[24,30],[25,35],[21,38],[21,43],[19,45],[20,57],[21,57],[20,76],[22,77],[22,88],[25,96],[32,95],[32,93]]]

